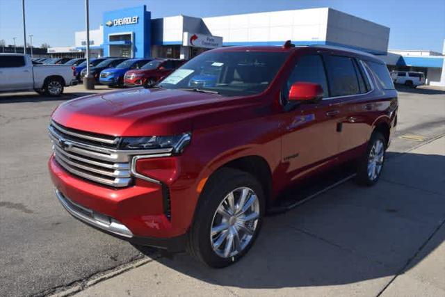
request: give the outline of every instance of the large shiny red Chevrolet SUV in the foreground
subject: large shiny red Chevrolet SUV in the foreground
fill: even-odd
[[[382,172],[398,100],[385,63],[333,47],[225,47],[152,88],[51,116],[56,195],[74,217],[214,267],[243,257],[286,188],[345,161]]]

